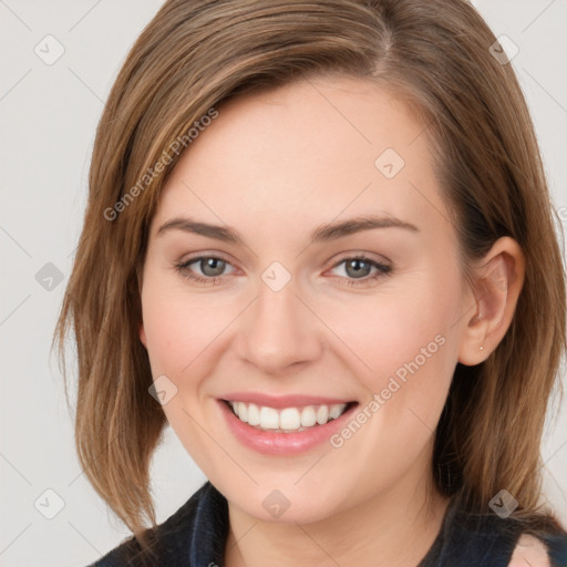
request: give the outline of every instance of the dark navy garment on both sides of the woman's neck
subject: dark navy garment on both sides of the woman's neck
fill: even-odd
[[[140,544],[131,537],[94,567],[223,567],[227,501],[207,482],[151,533],[155,536],[154,558],[144,558]],[[416,567],[506,567],[520,535],[516,520],[495,514],[470,515],[453,499],[435,542]],[[551,567],[567,567],[567,533],[550,528],[537,536],[546,544]]]

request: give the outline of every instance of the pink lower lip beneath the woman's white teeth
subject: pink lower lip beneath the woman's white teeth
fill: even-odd
[[[258,430],[244,423],[225,401],[218,400],[218,403],[228,427],[236,439],[243,445],[267,455],[295,455],[305,453],[326,441],[329,442],[331,435],[343,426],[358,405],[353,404],[340,417],[331,420],[324,425],[315,425],[297,433],[276,433]]]

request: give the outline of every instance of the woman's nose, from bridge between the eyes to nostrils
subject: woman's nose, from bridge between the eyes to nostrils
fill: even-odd
[[[322,351],[319,319],[297,296],[293,279],[279,291],[260,281],[258,297],[238,330],[238,351],[264,374],[279,375]]]

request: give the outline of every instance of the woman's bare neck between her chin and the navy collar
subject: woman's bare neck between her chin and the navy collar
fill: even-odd
[[[258,520],[229,504],[227,567],[415,567],[449,505],[433,478],[410,473],[386,492],[309,524]]]

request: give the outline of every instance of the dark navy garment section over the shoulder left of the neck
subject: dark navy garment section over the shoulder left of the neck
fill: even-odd
[[[150,554],[131,536],[89,567],[192,565],[196,540],[199,545],[204,539],[209,540],[213,548],[217,540],[224,544],[227,516],[226,499],[207,482],[165,522],[145,532],[151,544]]]

